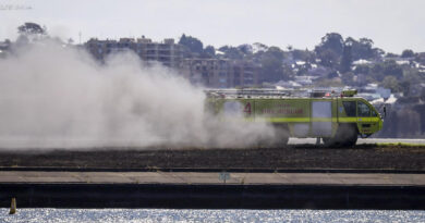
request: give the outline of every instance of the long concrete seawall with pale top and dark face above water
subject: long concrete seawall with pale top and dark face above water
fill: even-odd
[[[19,208],[425,209],[423,174],[0,172]],[[226,181],[226,184],[223,179]]]

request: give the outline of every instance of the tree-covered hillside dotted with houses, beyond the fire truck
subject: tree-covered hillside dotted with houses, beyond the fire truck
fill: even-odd
[[[292,46],[284,50],[260,42],[202,49],[201,40],[185,35],[179,42],[186,46],[192,55],[257,63],[260,66],[259,79],[266,83],[311,75],[317,67],[326,72],[324,78],[318,79],[318,86],[377,83],[393,92],[409,96],[414,86],[425,83],[425,69],[421,70],[425,67],[425,52],[415,53],[406,49],[401,54],[385,53],[382,49],[374,47],[372,39],[344,38],[338,33],[326,34],[314,50],[293,49]]]

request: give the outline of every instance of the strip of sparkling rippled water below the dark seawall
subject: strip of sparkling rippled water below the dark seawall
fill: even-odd
[[[0,222],[425,222],[425,211],[19,209]]]

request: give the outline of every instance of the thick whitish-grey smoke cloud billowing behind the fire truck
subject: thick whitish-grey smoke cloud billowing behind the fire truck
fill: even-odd
[[[161,65],[38,42],[0,59],[0,148],[252,145],[265,124],[220,122],[205,96]]]

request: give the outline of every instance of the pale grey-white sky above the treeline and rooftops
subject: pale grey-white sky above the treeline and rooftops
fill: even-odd
[[[4,10],[8,5],[31,10]],[[424,0],[0,0],[0,40],[16,38],[25,22],[62,39],[155,41],[182,34],[204,46],[262,42],[314,49],[327,33],[366,37],[401,53],[425,51]]]

